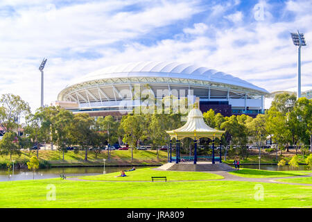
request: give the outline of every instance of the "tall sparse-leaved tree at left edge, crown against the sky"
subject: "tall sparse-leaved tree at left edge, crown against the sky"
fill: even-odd
[[[0,126],[11,132],[18,128],[18,120],[31,112],[28,103],[20,96],[3,94],[0,98]]]

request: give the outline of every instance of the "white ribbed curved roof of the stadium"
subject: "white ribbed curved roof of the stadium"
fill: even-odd
[[[266,89],[257,87],[256,85],[242,80],[241,78],[225,74],[224,72],[180,62],[136,62],[107,67],[87,74],[82,78],[74,79],[72,83],[67,85],[67,88],[92,80],[132,77],[184,78],[192,80],[204,80],[213,83],[224,83],[253,89],[263,94],[269,93]]]

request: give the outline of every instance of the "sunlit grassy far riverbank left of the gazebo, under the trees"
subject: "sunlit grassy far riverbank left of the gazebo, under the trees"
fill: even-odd
[[[22,151],[21,155],[13,155],[12,160],[15,160],[15,168],[26,169],[27,162],[33,155],[37,155],[36,151]],[[133,160],[131,160],[131,150],[128,151],[110,151],[110,158],[108,158],[107,151],[101,153],[94,153],[88,151],[88,160],[85,161],[85,151],[67,151],[64,153],[64,160],[62,160],[62,152],[60,151],[44,151],[40,150],[38,159],[40,161],[40,169],[49,167],[103,167],[103,159],[105,165],[110,167],[119,166],[160,166],[167,161],[166,151],[133,151]],[[12,165],[10,157],[0,157],[0,169],[6,169],[7,164]]]

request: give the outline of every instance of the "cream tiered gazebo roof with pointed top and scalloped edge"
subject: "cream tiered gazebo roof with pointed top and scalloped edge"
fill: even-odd
[[[216,130],[207,126],[202,116],[202,112],[198,108],[193,108],[187,116],[187,123],[184,126],[177,128],[176,130],[166,131],[170,135],[171,139],[184,139],[186,137],[200,139],[207,137],[210,139],[220,138],[225,131]]]

